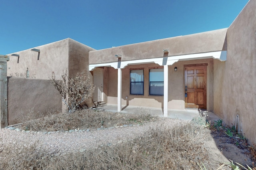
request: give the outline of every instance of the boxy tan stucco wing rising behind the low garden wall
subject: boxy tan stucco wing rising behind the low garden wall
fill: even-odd
[[[36,78],[49,79],[52,77],[52,72],[55,73],[56,79],[60,79],[63,71],[67,69],[70,77],[75,76],[78,72],[84,73],[90,78],[89,74],[89,51],[94,50],[82,43],[67,38],[54,43],[34,47],[40,49],[40,57],[38,53],[31,51],[31,49],[8,54],[10,61],[8,61],[7,75],[15,73],[23,73],[26,75],[28,68],[30,75],[35,74]],[[19,63],[18,57],[12,54],[20,55]]]

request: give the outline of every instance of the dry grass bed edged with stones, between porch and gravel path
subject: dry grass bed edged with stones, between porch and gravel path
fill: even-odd
[[[19,128],[30,131],[67,131],[78,128],[106,128],[128,123],[142,124],[156,119],[157,117],[149,113],[130,114],[85,109],[73,113],[52,113],[35,120],[24,117],[26,122]]]

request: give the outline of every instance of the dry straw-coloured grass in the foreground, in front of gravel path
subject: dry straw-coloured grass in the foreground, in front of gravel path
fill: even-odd
[[[172,128],[159,126],[128,143],[84,152],[49,152],[40,149],[38,143],[15,150],[3,146],[0,156],[6,158],[0,158],[0,169],[199,169],[196,163],[209,168],[208,153],[202,147],[206,131],[194,123]]]

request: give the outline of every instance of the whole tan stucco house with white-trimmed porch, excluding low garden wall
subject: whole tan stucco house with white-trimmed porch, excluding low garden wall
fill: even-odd
[[[230,27],[95,50],[70,38],[9,54],[8,75],[87,74],[94,101],[168,109],[201,108],[239,124],[256,143],[256,0]]]

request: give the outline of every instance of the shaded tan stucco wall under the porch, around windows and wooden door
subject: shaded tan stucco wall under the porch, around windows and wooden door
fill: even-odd
[[[207,66],[207,109],[213,110],[213,59],[202,59],[193,61],[179,61],[168,67],[168,108],[170,109],[185,109],[185,85],[184,85],[184,64],[201,64],[208,63]],[[145,107],[163,107],[163,96],[149,95],[149,68],[157,67],[158,64],[138,64],[129,65],[122,69],[122,104],[132,106]],[[174,71],[174,67],[178,70]],[[144,69],[144,95],[130,95],[130,69]],[[104,93],[108,94],[107,102],[109,104],[117,104],[117,70],[114,68],[105,68],[108,72],[104,72]],[[125,97],[128,97],[126,100]]]

